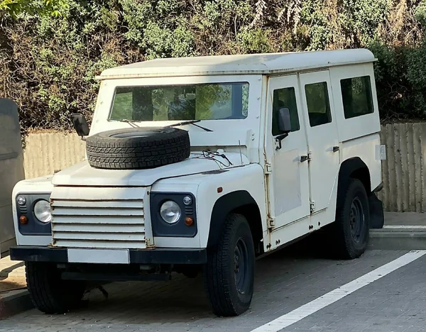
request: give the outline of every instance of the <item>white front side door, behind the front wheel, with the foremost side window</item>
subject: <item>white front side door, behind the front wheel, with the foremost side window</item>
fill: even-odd
[[[267,142],[272,153],[271,175],[268,177],[269,210],[274,228],[305,218],[310,214],[308,163],[302,156],[307,155],[307,140],[302,116],[302,103],[297,75],[272,77],[268,84],[268,121],[272,123]],[[278,110],[290,110],[291,132],[281,140],[277,138]]]

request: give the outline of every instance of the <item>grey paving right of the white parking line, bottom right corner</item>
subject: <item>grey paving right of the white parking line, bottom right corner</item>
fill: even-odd
[[[423,256],[282,331],[426,331],[425,277]]]

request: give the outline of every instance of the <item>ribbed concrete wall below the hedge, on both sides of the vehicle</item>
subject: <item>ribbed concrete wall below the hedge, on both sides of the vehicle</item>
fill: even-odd
[[[382,164],[386,211],[426,211],[426,123],[397,123],[382,127],[387,160]],[[26,177],[52,174],[84,160],[84,141],[63,133],[30,134],[26,140]]]

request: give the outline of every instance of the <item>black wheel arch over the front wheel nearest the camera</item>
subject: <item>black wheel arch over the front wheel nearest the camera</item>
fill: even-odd
[[[217,199],[212,209],[210,219],[209,239],[207,248],[215,248],[222,235],[224,221],[228,214],[241,214],[249,222],[256,254],[263,252],[261,240],[263,238],[261,211],[251,194],[246,190],[230,192]]]

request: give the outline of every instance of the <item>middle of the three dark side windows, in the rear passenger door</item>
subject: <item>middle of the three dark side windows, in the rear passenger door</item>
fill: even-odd
[[[332,122],[327,82],[306,84],[305,94],[310,126]]]

